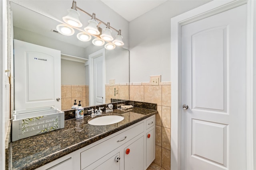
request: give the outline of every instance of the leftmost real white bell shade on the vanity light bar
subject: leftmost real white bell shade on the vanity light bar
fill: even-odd
[[[74,27],[82,27],[82,23],[79,20],[80,14],[73,9],[68,9],[68,15],[62,17],[62,20],[66,22],[69,25],[72,25]]]

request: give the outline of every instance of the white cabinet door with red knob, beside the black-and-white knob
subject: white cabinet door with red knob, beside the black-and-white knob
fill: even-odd
[[[144,169],[144,136],[124,149],[124,170]]]

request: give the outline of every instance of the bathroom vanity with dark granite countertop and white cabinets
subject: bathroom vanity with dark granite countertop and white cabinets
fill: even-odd
[[[134,107],[114,113],[124,120],[90,125],[69,119],[56,131],[12,143],[9,167],[14,170],[146,170],[155,159],[156,110]]]

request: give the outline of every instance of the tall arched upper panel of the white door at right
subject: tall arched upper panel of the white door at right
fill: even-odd
[[[226,27],[207,29],[192,35],[193,109],[224,111],[224,100],[227,98],[226,39]],[[205,96],[212,98],[206,100]]]

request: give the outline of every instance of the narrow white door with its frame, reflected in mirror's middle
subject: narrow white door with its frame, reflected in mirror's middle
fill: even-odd
[[[105,101],[105,48],[89,55],[89,96],[90,106],[103,104]]]

